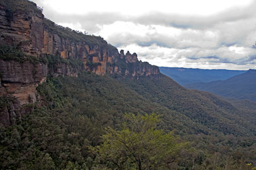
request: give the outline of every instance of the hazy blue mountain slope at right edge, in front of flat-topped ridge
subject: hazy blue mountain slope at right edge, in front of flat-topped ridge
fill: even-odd
[[[233,76],[227,80],[190,84],[187,88],[212,92],[223,97],[256,101],[256,70]]]

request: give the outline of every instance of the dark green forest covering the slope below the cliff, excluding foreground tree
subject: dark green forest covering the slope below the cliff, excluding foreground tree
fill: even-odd
[[[106,128],[122,132],[126,113],[156,113],[156,129],[171,132],[181,144],[160,169],[255,166],[253,112],[186,90],[165,75],[159,80],[89,72],[78,78],[48,76],[37,90],[42,100],[33,112],[12,126],[1,126],[1,169],[118,169],[91,148],[102,145]]]

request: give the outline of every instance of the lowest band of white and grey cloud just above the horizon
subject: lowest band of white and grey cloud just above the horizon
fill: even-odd
[[[130,44],[121,46],[119,50],[137,52],[141,61],[165,67],[191,67],[202,69],[255,69],[256,56],[251,48],[223,46],[217,50],[200,48],[164,48],[156,44],[138,46]]]

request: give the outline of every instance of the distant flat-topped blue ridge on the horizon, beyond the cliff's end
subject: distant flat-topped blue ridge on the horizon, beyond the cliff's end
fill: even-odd
[[[216,80],[226,80],[245,73],[240,70],[227,69],[190,69],[183,67],[159,67],[162,74],[172,78],[175,82],[182,86],[194,84],[198,82],[212,82]]]

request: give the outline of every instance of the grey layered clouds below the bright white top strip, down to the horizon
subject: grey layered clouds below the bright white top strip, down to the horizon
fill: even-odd
[[[208,15],[148,11],[58,12],[47,0],[47,18],[72,29],[100,35],[139,59],[166,67],[256,69],[256,1]],[[127,9],[124,9],[127,10]]]

